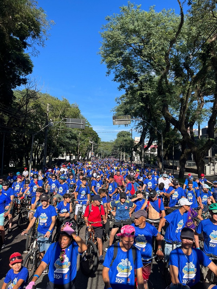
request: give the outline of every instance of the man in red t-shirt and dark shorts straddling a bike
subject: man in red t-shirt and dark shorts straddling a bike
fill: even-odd
[[[94,229],[94,235],[97,239],[98,244],[98,250],[100,255],[100,264],[103,264],[104,258],[103,258],[103,242],[102,242],[102,235],[103,235],[103,224],[106,223],[106,217],[105,217],[105,211],[103,206],[101,205],[101,202],[103,199],[100,198],[99,195],[95,195],[93,197],[93,203],[89,204],[86,207],[85,213],[84,213],[84,219],[89,222],[99,222],[94,224],[92,227]],[[103,218],[103,221],[102,221]],[[88,228],[88,222],[86,222],[86,226]],[[87,229],[86,229],[87,231]]]

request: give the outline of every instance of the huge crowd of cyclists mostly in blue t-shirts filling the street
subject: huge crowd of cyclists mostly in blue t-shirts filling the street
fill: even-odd
[[[78,253],[86,275],[103,265],[106,289],[147,289],[153,260],[164,262],[159,278],[170,288],[217,289],[216,202],[217,181],[204,174],[179,184],[170,172],[113,158],[10,172],[0,178],[0,250],[16,212],[39,258],[33,270],[13,253],[2,289],[32,289],[41,274],[48,289],[74,289]]]

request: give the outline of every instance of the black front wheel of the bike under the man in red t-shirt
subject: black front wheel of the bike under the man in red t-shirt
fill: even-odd
[[[87,241],[87,250],[80,255],[80,268],[84,275],[95,273],[98,268],[98,256],[96,245],[91,241]]]

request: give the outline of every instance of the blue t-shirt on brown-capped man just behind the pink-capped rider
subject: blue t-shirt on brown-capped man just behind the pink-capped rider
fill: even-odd
[[[158,230],[151,224],[145,223],[145,227],[143,229],[135,226],[135,238],[134,238],[134,246],[139,249],[141,256],[143,259],[149,259],[152,257],[152,237],[157,236]]]

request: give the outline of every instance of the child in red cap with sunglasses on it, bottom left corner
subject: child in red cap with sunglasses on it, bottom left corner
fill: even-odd
[[[7,272],[2,289],[6,289],[8,283],[8,289],[23,289],[27,285],[29,278],[29,271],[26,267],[23,267],[23,257],[19,252],[15,252],[10,256],[11,269]]]

